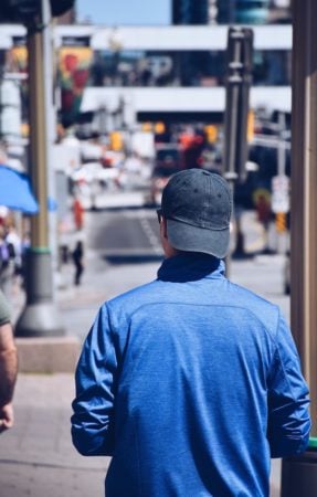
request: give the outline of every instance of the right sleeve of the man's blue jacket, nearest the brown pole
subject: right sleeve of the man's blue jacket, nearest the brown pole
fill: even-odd
[[[272,457],[300,454],[309,441],[308,388],[285,319],[279,315],[268,378],[267,438]]]

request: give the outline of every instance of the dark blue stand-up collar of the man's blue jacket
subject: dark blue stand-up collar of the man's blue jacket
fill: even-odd
[[[223,261],[208,254],[181,253],[163,261],[158,269],[162,282],[194,282],[204,277],[224,277]]]

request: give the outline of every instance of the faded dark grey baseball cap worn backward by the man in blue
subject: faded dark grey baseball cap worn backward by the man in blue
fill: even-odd
[[[203,169],[186,169],[165,187],[161,213],[170,244],[223,258],[229,251],[232,195],[229,183]]]

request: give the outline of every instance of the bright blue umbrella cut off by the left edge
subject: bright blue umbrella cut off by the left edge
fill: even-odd
[[[0,165],[0,205],[28,214],[39,212],[28,176],[3,165]]]

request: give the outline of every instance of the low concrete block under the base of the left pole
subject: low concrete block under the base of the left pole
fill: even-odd
[[[81,352],[76,337],[15,338],[19,372],[73,373]]]

